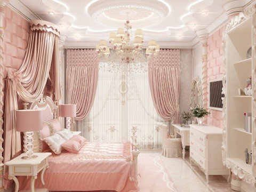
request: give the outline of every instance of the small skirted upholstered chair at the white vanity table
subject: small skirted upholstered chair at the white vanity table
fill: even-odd
[[[167,125],[159,124],[162,139],[162,155],[165,157],[182,157],[181,138],[167,137]]]

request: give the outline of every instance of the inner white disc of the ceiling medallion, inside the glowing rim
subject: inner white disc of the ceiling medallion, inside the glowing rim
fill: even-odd
[[[147,5],[110,5],[98,10],[95,10],[91,17],[92,19],[100,23],[101,25],[118,27],[127,18],[126,14],[129,12],[129,20],[133,22],[135,27],[148,27],[156,25],[161,22],[166,13],[155,7]]]

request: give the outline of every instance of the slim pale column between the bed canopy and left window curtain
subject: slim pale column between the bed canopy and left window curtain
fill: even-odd
[[[61,100],[60,104],[65,104],[65,99],[66,99],[66,67],[65,67],[65,49],[64,49],[64,44],[66,41],[66,36],[60,36],[59,39],[59,52],[60,52],[60,86],[61,86]],[[65,118],[61,117],[60,118],[60,123],[62,129],[65,128]]]

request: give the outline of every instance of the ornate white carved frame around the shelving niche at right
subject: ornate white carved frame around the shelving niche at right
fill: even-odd
[[[232,171],[233,174],[237,175],[240,179],[242,179],[243,181],[249,183],[250,185],[255,185],[255,178],[253,177],[252,174],[255,174],[255,172],[253,171],[253,173],[249,173],[247,172],[244,167],[240,167],[239,165],[229,161],[229,159],[227,159],[227,83],[226,83],[226,79],[227,79],[227,35],[228,35],[228,31],[230,31],[231,29],[234,29],[235,27],[237,27],[240,23],[242,23],[243,21],[252,18],[252,36],[254,37],[254,41],[252,43],[252,54],[254,55],[252,57],[253,60],[253,64],[252,64],[252,69],[253,69],[253,75],[252,75],[252,90],[253,92],[256,92],[256,86],[255,86],[255,82],[256,82],[256,65],[255,65],[255,55],[256,55],[256,40],[255,40],[255,36],[256,36],[256,5],[253,3],[252,5],[246,7],[244,9],[243,12],[239,13],[238,15],[236,15],[235,17],[231,18],[229,20],[229,22],[227,23],[226,26],[223,27],[223,33],[222,33],[222,46],[223,46],[223,78],[222,78],[222,84],[223,84],[223,88],[222,88],[222,93],[225,95],[224,98],[222,98],[222,103],[223,103],[223,107],[222,107],[222,114],[223,114],[223,131],[222,131],[222,161],[223,161],[223,165],[226,165],[228,169],[230,169]],[[253,114],[253,119],[254,119],[254,123],[252,124],[252,131],[255,133],[256,132],[256,94],[252,95],[252,114]],[[256,171],[256,138],[252,138],[252,170]]]

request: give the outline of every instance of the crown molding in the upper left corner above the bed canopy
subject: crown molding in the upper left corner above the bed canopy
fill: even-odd
[[[29,7],[27,7],[21,0],[10,0],[10,3],[7,6],[9,6],[13,11],[20,14],[27,21],[36,19],[42,20],[36,13],[30,10]]]

